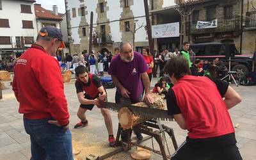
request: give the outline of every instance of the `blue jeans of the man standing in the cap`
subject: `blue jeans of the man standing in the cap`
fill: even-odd
[[[73,160],[70,130],[49,124],[48,120],[52,119],[24,118],[25,131],[30,135],[31,160]]]

